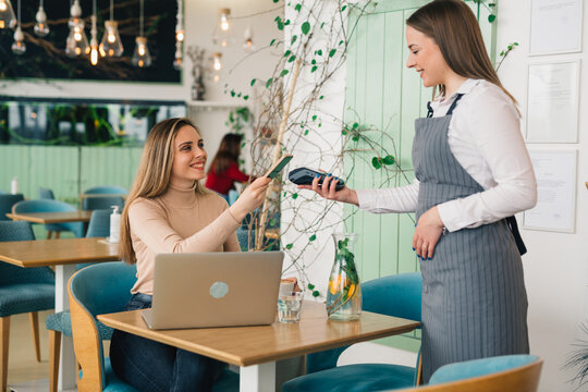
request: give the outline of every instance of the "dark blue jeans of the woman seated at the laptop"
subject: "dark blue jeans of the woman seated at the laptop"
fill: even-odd
[[[135,294],[126,310],[151,307],[151,296]],[[132,333],[114,330],[110,362],[117,376],[142,392],[210,391],[224,364]]]

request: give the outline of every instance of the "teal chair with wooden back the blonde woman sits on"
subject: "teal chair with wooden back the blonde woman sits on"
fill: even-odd
[[[82,376],[79,391],[134,392],[121,381],[105,356],[97,332],[96,316],[123,311],[131,298],[131,287],[136,281],[135,266],[123,261],[89,266],[77,271],[69,284],[73,341]],[[238,375],[224,369],[215,383],[213,392],[237,391]]]

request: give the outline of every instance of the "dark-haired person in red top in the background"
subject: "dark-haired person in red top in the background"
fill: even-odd
[[[224,135],[206,177],[206,187],[222,195],[225,199],[229,197],[229,191],[234,189],[235,182],[249,181],[249,175],[238,170],[242,139],[243,135]]]

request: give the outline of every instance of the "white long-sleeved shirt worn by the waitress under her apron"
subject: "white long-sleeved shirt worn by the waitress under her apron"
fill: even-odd
[[[485,189],[438,205],[445,228],[456,231],[499,221],[532,208],[537,182],[518,113],[511,98],[494,84],[467,79],[449,99],[431,102],[433,117],[443,117],[457,94],[448,131],[451,152]],[[376,213],[414,212],[419,182],[389,189],[357,189],[359,208]]]

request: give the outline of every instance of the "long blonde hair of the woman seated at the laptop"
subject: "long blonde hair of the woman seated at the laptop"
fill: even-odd
[[[119,253],[123,260],[128,264],[137,262],[133,242],[131,240],[131,225],[128,223],[128,207],[138,197],[154,198],[163,195],[170,185],[173,167],[175,135],[184,125],[194,127],[198,134],[200,131],[189,119],[175,118],[158,122],[154,125],[140,156],[137,176],[133,182],[128,197],[124,206],[121,219],[121,241]],[[196,182],[196,193],[206,194],[204,186]]]

